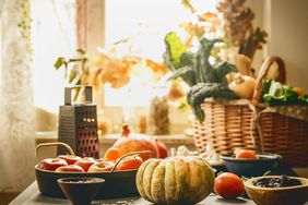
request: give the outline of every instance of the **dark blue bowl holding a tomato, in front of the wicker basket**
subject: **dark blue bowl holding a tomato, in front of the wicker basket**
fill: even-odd
[[[260,177],[273,170],[282,158],[275,154],[258,154],[258,157],[259,159],[237,159],[233,154],[221,156],[229,172],[247,178]]]

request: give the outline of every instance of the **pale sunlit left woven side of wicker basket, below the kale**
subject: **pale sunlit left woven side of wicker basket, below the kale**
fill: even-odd
[[[256,107],[249,100],[217,101],[206,99],[201,105],[205,113],[202,124],[194,121],[194,144],[200,152],[211,142],[220,154],[232,152],[236,147],[254,149],[258,136],[253,116]],[[258,108],[261,109],[261,108]]]

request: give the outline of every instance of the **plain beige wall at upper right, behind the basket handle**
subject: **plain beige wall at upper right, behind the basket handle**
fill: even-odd
[[[286,63],[287,84],[308,92],[308,1],[265,0],[264,25],[270,33],[268,55]]]

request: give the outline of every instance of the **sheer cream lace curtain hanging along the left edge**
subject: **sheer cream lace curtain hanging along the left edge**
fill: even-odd
[[[0,191],[21,191],[35,164],[29,0],[0,4]]]

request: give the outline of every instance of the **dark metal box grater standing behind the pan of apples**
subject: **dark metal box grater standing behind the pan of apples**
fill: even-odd
[[[72,104],[72,89],[66,87],[64,105],[60,106],[58,141],[71,146],[78,156],[99,158],[96,105],[92,104],[92,87],[84,86],[85,102]],[[57,154],[67,154],[58,146]]]

